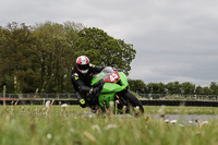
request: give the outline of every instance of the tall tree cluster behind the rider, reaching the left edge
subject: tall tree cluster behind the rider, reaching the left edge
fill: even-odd
[[[45,22],[0,26],[0,92],[72,93],[71,71],[78,56],[96,65],[122,69],[135,58],[133,45],[81,23]]]

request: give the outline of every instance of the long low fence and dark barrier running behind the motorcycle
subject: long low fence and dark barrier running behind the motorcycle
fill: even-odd
[[[141,94],[140,97],[144,106],[218,107],[216,95]],[[47,100],[55,100],[53,105],[78,105],[75,94],[5,94],[7,105],[44,105]],[[3,94],[0,94],[0,105],[3,105]]]

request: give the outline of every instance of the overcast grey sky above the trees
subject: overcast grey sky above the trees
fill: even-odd
[[[1,26],[46,21],[82,23],[133,44],[130,78],[218,82],[218,0],[1,0]]]

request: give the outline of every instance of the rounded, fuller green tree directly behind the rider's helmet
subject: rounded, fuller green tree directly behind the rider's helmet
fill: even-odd
[[[92,63],[122,69],[126,74],[130,63],[135,58],[133,45],[114,39],[98,28],[84,28],[78,33],[75,44],[75,57],[85,55]]]

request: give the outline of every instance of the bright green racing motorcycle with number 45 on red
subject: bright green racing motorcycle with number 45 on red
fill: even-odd
[[[129,90],[128,76],[123,72],[107,67],[93,77],[90,85],[100,88],[95,106],[101,111],[106,112],[112,105],[113,113],[144,113],[142,102]]]

